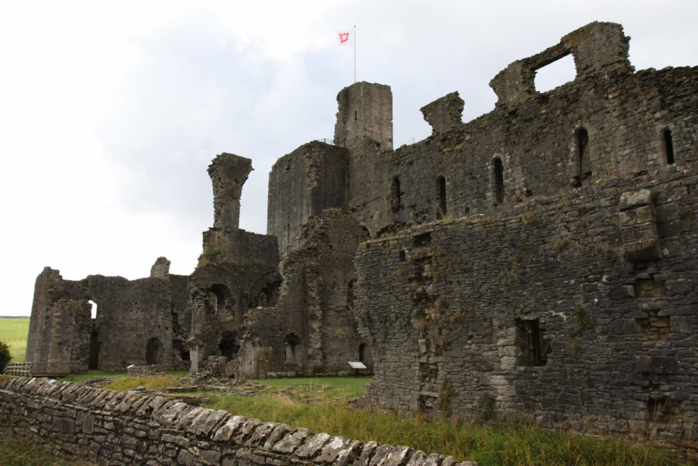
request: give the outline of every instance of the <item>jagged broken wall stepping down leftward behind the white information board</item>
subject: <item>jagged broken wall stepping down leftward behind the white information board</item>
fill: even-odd
[[[348,361],[359,360],[371,371],[371,348],[359,338],[352,314],[353,258],[368,238],[342,210],[313,218],[300,247],[281,263],[278,303],[246,315],[228,374],[251,379],[351,374]]]

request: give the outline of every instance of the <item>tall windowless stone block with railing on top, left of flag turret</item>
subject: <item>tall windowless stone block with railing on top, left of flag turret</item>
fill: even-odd
[[[269,172],[267,234],[279,240],[282,256],[299,247],[310,219],[345,206],[346,164],[346,149],[318,141],[274,163]]]

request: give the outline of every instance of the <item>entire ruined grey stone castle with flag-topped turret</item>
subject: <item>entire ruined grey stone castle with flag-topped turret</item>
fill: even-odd
[[[498,73],[486,115],[463,123],[457,92],[425,105],[431,136],[397,150],[390,88],[346,87],[334,143],[302,145],[269,173],[267,235],[238,225],[251,161],[217,156],[195,272],[117,288],[45,270],[27,361],[81,370],[96,328],[85,300],[141,315],[128,291],[161,320],[140,326],[133,354],[98,332],[109,364],[149,362],[158,325],[172,337],[158,363],[188,351],[193,374],[344,374],[360,360],[369,407],[688,435],[698,68],[635,72],[629,41],[618,24],[577,29]],[[570,54],[577,78],[537,92],[536,70]]]

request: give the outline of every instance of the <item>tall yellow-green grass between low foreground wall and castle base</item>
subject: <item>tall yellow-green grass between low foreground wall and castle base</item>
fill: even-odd
[[[459,461],[476,460],[481,466],[691,464],[658,446],[540,430],[523,422],[496,428],[431,423],[423,418],[401,418],[389,412],[356,410],[343,401],[309,405],[283,396],[220,396],[214,397],[205,407],[362,442],[375,440],[381,444],[408,445],[428,453],[452,455]]]

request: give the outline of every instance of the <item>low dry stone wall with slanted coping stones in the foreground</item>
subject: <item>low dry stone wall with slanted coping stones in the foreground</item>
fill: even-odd
[[[0,377],[0,432],[100,466],[477,466],[161,397],[24,377]]]

